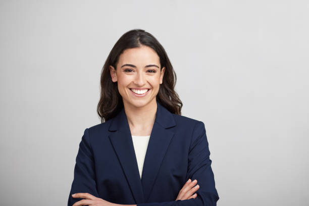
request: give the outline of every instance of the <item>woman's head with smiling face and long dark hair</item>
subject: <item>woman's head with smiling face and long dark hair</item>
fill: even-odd
[[[142,107],[152,102],[148,106],[153,108],[154,100],[170,112],[181,115],[182,102],[174,90],[176,81],[168,55],[155,37],[140,29],[126,32],[115,43],[102,69],[101,97],[97,107],[101,122],[115,117],[125,104]],[[132,96],[133,92],[128,91],[132,88],[135,91],[149,89],[150,95],[132,99],[143,96]]]

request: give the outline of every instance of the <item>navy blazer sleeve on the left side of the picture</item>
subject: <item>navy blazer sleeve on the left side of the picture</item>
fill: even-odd
[[[89,140],[89,129],[86,128],[79,144],[74,168],[74,179],[68,199],[68,206],[83,198],[73,198],[74,193],[89,193],[98,197],[96,190],[95,168],[92,148]]]

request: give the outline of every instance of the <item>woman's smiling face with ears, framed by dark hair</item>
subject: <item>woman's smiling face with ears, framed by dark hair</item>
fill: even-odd
[[[125,107],[156,104],[165,67],[160,70],[160,58],[155,50],[144,45],[125,49],[116,67],[110,66],[112,81],[118,82]]]

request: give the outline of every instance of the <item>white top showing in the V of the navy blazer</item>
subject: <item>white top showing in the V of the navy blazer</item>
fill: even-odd
[[[133,140],[133,145],[134,145],[134,150],[135,150],[135,156],[137,160],[137,166],[139,170],[139,175],[141,179],[142,171],[143,171],[143,166],[144,166],[144,160],[146,156],[146,151],[148,147],[148,142],[149,142],[149,136],[134,136],[132,135],[132,140]]]

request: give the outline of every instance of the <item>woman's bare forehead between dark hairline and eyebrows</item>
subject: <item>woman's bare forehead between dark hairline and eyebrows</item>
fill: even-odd
[[[160,58],[155,50],[149,46],[125,49],[119,57],[120,64],[160,64]]]

